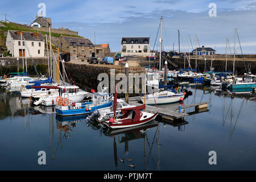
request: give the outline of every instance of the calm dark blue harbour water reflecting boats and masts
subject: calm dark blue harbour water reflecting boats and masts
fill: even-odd
[[[86,117],[63,121],[52,107],[31,107],[1,89],[0,170],[255,170],[255,98],[188,89],[193,95],[183,104],[209,101],[207,110],[131,131],[106,131]],[[46,165],[38,164],[39,151],[46,152]],[[209,151],[216,151],[216,165],[209,164]]]

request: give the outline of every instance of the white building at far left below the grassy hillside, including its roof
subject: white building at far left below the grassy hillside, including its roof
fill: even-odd
[[[13,57],[44,57],[44,39],[38,32],[9,30],[6,47]]]

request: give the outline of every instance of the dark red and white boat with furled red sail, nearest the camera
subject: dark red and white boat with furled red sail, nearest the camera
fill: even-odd
[[[126,107],[121,109],[122,116],[115,118],[115,110],[117,109],[117,86],[115,86],[114,95],[114,118],[110,118],[109,121],[104,121],[103,123],[112,128],[119,129],[123,127],[133,127],[138,125],[143,125],[144,123],[150,122],[156,118],[158,112],[149,113],[143,111],[146,109],[146,105]]]

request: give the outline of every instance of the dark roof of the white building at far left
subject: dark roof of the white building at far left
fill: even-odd
[[[9,30],[9,32],[10,32],[11,38],[13,38],[14,40],[20,40],[19,32],[22,32],[22,39],[44,41],[42,34],[38,32],[24,32],[24,31],[14,31],[14,30]],[[33,36],[35,34],[38,34],[38,37]]]

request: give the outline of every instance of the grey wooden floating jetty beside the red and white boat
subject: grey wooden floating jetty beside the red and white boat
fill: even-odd
[[[139,104],[137,101],[140,100],[141,97],[137,96],[137,97],[130,97],[129,98],[129,102],[132,102],[133,105],[139,106],[142,104]],[[164,109],[161,107],[156,107],[156,106],[150,106],[150,105],[146,105],[146,111],[149,112],[159,112],[159,115],[164,118],[164,119],[168,119],[171,121],[174,121],[176,119],[180,119],[180,118],[184,118],[188,115],[191,115],[189,113],[184,113],[184,109],[189,108],[189,107],[195,107],[195,110],[199,110],[199,109],[207,109],[208,107],[208,103],[209,102],[200,102],[200,103],[196,103],[196,104],[189,104],[189,105],[184,105],[181,106],[181,113],[179,113],[179,109]]]

